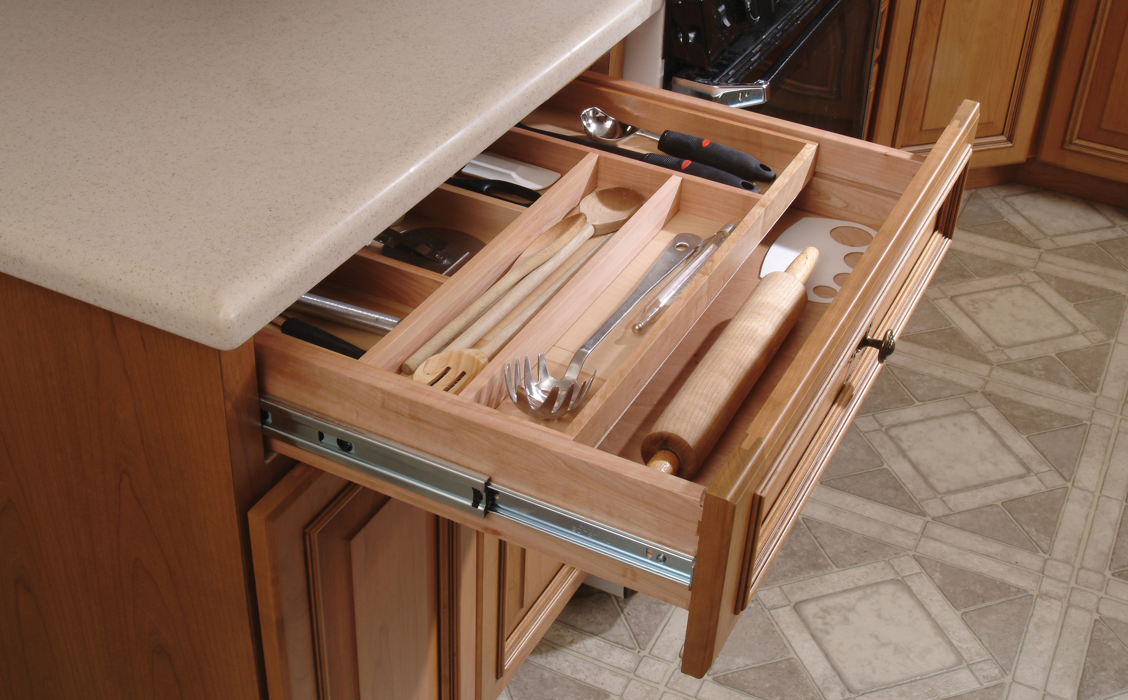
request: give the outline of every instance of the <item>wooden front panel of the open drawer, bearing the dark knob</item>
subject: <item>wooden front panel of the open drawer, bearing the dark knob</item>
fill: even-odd
[[[966,101],[851,274],[836,301],[795,357],[743,443],[710,485],[698,529],[702,547],[686,632],[685,673],[712,665],[747,602],[746,566],[758,520],[783,489],[830,410],[846,365],[866,330],[893,303],[897,278],[908,275],[911,250],[932,225],[970,156],[978,105]],[[931,231],[932,229],[928,228]]]

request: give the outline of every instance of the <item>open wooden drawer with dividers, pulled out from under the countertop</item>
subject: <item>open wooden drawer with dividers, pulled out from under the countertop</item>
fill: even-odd
[[[779,175],[757,195],[511,130],[490,150],[562,178],[528,209],[446,185],[423,197],[406,224],[438,221],[487,242],[449,278],[364,249],[316,287],[404,317],[382,338],[324,325],[365,347],[361,360],[259,331],[264,432],[279,452],[687,608],[682,672],[700,676],[876,375],[879,352],[858,352],[861,340],[900,333],[946,249],[978,105],[964,103],[927,159],[592,73],[528,121],[562,131],[588,106],[715,139]],[[397,373],[543,230],[611,186],[647,201],[460,396]],[[755,287],[770,242],[802,216],[879,233],[830,303],[808,303],[694,479],[647,469],[641,438]],[[617,328],[591,355],[598,383],[575,416],[541,423],[513,409],[506,361],[566,362],[664,241],[729,221],[740,222],[733,234],[654,326]]]

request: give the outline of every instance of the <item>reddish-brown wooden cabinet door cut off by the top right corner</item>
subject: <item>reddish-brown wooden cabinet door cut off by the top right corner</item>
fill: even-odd
[[[1128,2],[1075,0],[1038,158],[1128,181]]]

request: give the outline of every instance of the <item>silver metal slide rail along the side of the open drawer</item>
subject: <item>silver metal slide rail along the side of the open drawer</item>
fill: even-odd
[[[490,477],[395,441],[262,397],[263,434],[478,517],[492,514],[689,585],[694,557],[492,484]]]

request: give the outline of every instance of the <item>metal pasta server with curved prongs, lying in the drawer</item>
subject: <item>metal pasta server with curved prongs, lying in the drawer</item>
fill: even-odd
[[[623,300],[619,308],[572,355],[572,362],[569,363],[567,371],[563,378],[555,379],[548,372],[544,353],[540,353],[537,362],[536,380],[532,379],[532,367],[530,366],[528,355],[525,356],[523,375],[517,360],[511,365],[506,364],[505,388],[509,390],[509,398],[523,413],[546,420],[559,418],[575,410],[583,402],[583,397],[588,393],[588,388],[596,376],[592,374],[588,381],[582,384],[579,383],[580,370],[583,369],[583,362],[588,358],[588,355],[599,345],[600,340],[607,337],[607,334],[611,333],[611,329],[627,313],[631,313],[635,304],[670,274],[675,267],[685,262],[700,242],[702,239],[693,233],[678,233],[675,236],[667,243],[662,254],[658,256],[658,260],[654,262],[646,275],[635,286],[634,291]]]

